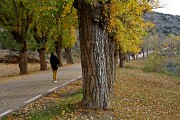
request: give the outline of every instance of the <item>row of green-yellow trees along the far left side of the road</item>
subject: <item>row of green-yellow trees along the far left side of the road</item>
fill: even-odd
[[[68,54],[76,41],[76,10],[72,0],[28,1],[1,0],[0,28],[3,42],[13,41],[19,45],[20,74],[27,74],[27,50],[37,49],[40,58],[40,70],[47,69],[45,53],[56,50],[62,66],[62,48]],[[6,41],[4,41],[6,40]],[[54,47],[53,47],[54,46]],[[69,58],[69,57],[68,57]],[[68,63],[73,63],[68,59]]]

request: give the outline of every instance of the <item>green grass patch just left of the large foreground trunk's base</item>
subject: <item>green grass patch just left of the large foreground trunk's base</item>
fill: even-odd
[[[82,90],[74,91],[69,94],[68,98],[59,100],[45,111],[40,111],[29,115],[29,120],[50,120],[51,118],[63,118],[65,114],[75,112],[76,106],[74,101],[82,99]],[[69,116],[70,117],[70,116]]]

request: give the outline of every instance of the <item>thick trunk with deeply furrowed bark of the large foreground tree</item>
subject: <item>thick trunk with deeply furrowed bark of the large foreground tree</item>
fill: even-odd
[[[104,4],[96,2],[95,6],[85,0],[76,0],[79,16],[79,36],[81,47],[81,64],[83,78],[83,106],[85,109],[107,109],[109,106],[107,73],[111,60],[108,33],[104,18]],[[113,51],[114,52],[114,51]],[[110,69],[112,70],[112,69]]]

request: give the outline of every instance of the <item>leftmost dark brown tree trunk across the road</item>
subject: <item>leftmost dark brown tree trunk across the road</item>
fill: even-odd
[[[26,41],[23,42],[23,47],[19,51],[19,68],[20,68],[20,75],[28,74],[27,68],[27,43]]]

